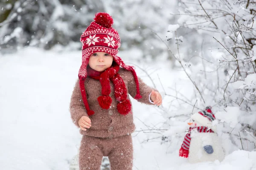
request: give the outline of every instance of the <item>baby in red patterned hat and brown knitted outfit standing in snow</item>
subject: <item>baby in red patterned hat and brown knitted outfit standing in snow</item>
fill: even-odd
[[[158,106],[162,96],[117,56],[121,42],[112,17],[97,13],[94,20],[81,35],[82,64],[70,102],[71,118],[83,135],[79,169],[100,170],[108,156],[111,170],[132,170],[135,126],[128,94]]]

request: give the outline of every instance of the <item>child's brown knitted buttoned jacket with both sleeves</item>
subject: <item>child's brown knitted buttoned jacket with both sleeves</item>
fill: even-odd
[[[118,73],[125,82],[128,94],[130,94],[134,98],[136,95],[136,84],[134,82],[133,75],[130,71],[126,71],[123,68],[120,68]],[[148,96],[152,90],[156,90],[147,86],[139,77],[138,80],[140,85],[140,95],[142,96],[142,98],[138,101],[148,105],[152,105],[148,100]],[[110,82],[110,96],[112,98],[112,103],[109,109],[102,109],[97,101],[97,98],[102,95],[102,87],[99,80],[87,77],[84,83],[87,93],[88,104],[90,106],[90,109],[93,110],[95,113],[92,116],[88,116],[86,113],[84,102],[82,100],[80,92],[79,80],[76,82],[70,102],[71,118],[77,127],[79,127],[78,121],[81,116],[88,116],[91,119],[91,127],[86,131],[80,130],[80,133],[82,135],[101,138],[112,138],[117,136],[123,136],[125,134],[131,134],[132,132],[134,132],[135,125],[133,122],[132,112],[124,116],[121,115],[116,109],[116,105],[118,102],[113,95],[114,86],[112,82]]]

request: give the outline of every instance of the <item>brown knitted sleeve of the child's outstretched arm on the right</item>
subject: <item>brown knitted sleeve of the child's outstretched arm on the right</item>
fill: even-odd
[[[134,77],[131,74],[131,72],[130,71],[127,71],[127,72],[128,72],[128,76],[127,76],[127,78],[128,78],[128,93],[134,98],[136,95],[136,84],[135,84]],[[148,97],[152,91],[157,91],[157,90],[146,85],[142,81],[142,79],[140,79],[140,77],[138,77],[138,81],[139,81],[139,87],[140,87],[140,95],[142,96],[142,98],[139,99],[138,102],[145,103],[147,105],[153,105],[152,103],[149,102]]]

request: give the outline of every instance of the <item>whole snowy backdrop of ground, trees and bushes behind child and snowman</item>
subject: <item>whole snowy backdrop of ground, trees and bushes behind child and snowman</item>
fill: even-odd
[[[163,95],[159,108],[132,100],[133,169],[256,170],[255,5],[0,1],[0,169],[69,169],[81,140],[68,110],[81,65],[79,37],[96,11],[106,11],[121,37],[119,56]],[[186,123],[207,105],[226,157],[189,164],[178,156]]]

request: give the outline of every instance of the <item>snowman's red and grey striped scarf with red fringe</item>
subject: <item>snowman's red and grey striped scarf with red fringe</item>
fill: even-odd
[[[183,143],[180,147],[179,156],[187,158],[189,156],[189,145],[191,141],[191,130],[197,128],[199,133],[214,133],[213,130],[209,129],[209,127],[199,126],[199,127],[189,127],[189,132],[184,137]]]

